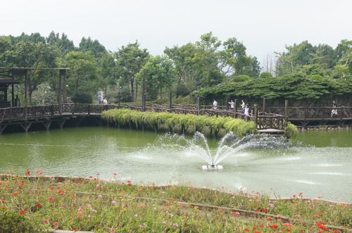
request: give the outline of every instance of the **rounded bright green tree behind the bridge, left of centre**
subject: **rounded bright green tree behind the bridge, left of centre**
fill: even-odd
[[[145,80],[146,95],[149,100],[161,98],[164,89],[170,91],[176,81],[176,75],[172,60],[160,55],[148,58],[146,65],[137,74],[139,81]]]

